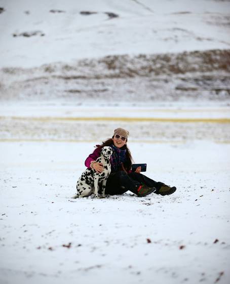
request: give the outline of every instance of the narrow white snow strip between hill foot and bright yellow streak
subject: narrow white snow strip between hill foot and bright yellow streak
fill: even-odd
[[[2,105],[0,111],[0,117],[17,117],[24,119],[86,119],[92,117],[92,119],[101,118],[108,120],[109,118],[118,119],[229,119],[230,107],[221,106],[220,103],[206,103],[205,105],[194,105],[189,103],[170,103],[168,106],[157,105],[146,106],[142,104],[137,106],[108,106],[106,102],[103,105],[88,105],[88,106],[76,106],[76,105],[41,105],[36,103],[23,104],[5,104]],[[207,106],[208,105],[208,106]]]

